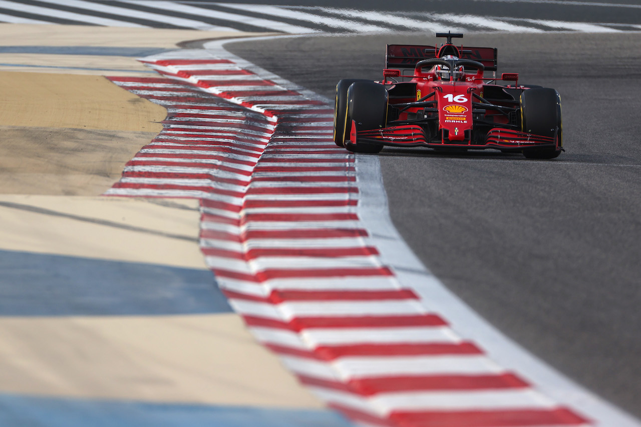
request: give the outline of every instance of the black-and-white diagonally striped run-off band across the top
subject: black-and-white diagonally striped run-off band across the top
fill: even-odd
[[[476,3],[476,2],[475,2]],[[433,4],[412,10],[363,10],[324,6],[272,6],[265,4],[215,3],[159,0],[0,0],[0,22],[29,24],[89,24],[129,28],[181,28],[213,31],[276,31],[279,33],[376,33],[397,31],[638,31],[638,6],[624,8],[610,22],[581,22],[578,12],[594,11],[600,17],[608,4],[567,2],[549,13],[549,6],[529,5],[528,12],[506,10],[503,2]],[[485,4],[484,4],[485,3]],[[531,2],[536,3],[536,2]],[[549,2],[548,2],[549,3]],[[538,7],[537,7],[538,6]],[[461,12],[465,10],[465,12]],[[525,9],[524,9],[525,10]],[[550,16],[554,19],[549,19]],[[589,19],[589,17],[588,17]]]

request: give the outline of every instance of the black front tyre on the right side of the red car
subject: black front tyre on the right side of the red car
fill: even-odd
[[[520,96],[522,131],[551,138],[556,134],[556,145],[546,148],[523,149],[528,159],[554,159],[561,154],[563,133],[561,97],[551,88],[524,90]]]

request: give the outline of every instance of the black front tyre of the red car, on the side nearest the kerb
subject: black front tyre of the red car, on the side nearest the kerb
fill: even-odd
[[[381,129],[387,122],[387,90],[373,81],[356,81],[347,90],[347,111],[345,113],[345,137],[349,137],[352,122],[361,131]],[[378,153],[381,144],[345,142],[345,148],[355,153]]]

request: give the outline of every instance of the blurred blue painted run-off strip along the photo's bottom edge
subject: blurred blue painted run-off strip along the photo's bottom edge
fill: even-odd
[[[0,394],[3,427],[353,427],[330,410],[229,407]]]

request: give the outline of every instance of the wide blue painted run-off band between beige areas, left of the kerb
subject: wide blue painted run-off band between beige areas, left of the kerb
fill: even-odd
[[[0,250],[0,271],[0,316],[232,312],[209,270]]]

